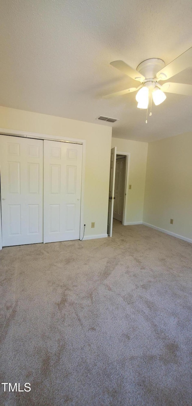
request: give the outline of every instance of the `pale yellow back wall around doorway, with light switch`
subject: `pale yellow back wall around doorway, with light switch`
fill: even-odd
[[[130,153],[129,184],[126,204],[126,223],[142,222],[145,193],[145,174],[147,165],[147,143],[139,141],[112,138],[111,147],[117,147],[119,152]]]

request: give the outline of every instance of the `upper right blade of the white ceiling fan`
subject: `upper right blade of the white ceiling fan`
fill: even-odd
[[[192,47],[157,72],[157,78],[167,80],[190,66],[192,66]]]

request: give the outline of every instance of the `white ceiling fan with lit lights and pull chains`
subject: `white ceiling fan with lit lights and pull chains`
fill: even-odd
[[[155,105],[158,106],[166,99],[166,92],[192,96],[191,84],[173,82],[166,82],[164,84],[158,83],[161,80],[170,79],[177,73],[192,66],[192,48],[189,48],[186,52],[183,52],[183,54],[178,56],[166,66],[164,61],[159,58],[144,60],[138,65],[136,70],[123,62],[123,60],[114,60],[114,62],[111,62],[110,65],[114,66],[116,69],[119,69],[130,78],[137,80],[140,82],[140,85],[138,87],[130,87],[129,89],[106,95],[104,98],[121,96],[138,91],[136,94],[136,101],[138,102],[137,107],[147,109],[148,112],[149,97],[151,97],[151,105],[153,99]],[[149,115],[152,115],[151,111]]]

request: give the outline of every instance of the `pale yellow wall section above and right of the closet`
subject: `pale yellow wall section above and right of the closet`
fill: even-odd
[[[0,107],[0,127],[86,140],[85,235],[106,234],[112,128],[6,107]]]

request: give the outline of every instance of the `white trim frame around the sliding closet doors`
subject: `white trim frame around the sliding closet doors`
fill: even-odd
[[[49,134],[41,134],[36,132],[9,130],[7,128],[0,128],[0,136],[8,135],[22,138],[35,138],[38,140],[51,140],[60,141],[63,143],[81,144],[82,145],[82,176],[81,176],[81,209],[80,209],[80,240],[83,238],[84,231],[84,188],[85,188],[85,149],[86,140],[80,138],[69,138],[65,136],[56,136]],[[1,198],[1,195],[0,195]],[[0,200],[1,202],[1,200]],[[2,224],[1,224],[1,204],[0,204],[0,250],[2,250]]]

